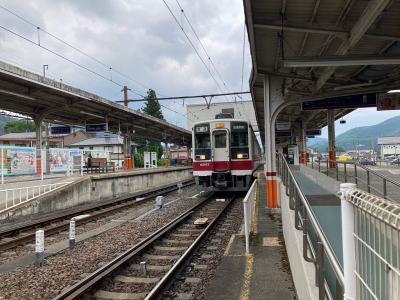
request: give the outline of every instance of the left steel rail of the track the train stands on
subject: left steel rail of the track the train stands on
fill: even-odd
[[[193,213],[193,210],[200,207],[204,202],[206,202],[210,197],[212,197],[213,194],[209,195],[206,197],[204,200],[201,202],[197,203],[190,209],[186,210],[183,212],[181,215],[178,217],[174,218],[170,222],[166,223],[164,226],[159,228],[158,230],[154,231],[147,237],[145,237],[143,240],[138,242],[137,244],[133,245],[131,248],[127,249],[125,252],[123,252],[121,255],[115,257],[108,263],[104,264],[94,272],[92,272],[90,275],[87,277],[81,279],[78,281],[76,284],[72,285],[68,289],[64,290],[61,294],[57,295],[56,297],[53,298],[53,300],[73,300],[82,295],[87,289],[89,289],[92,285],[97,283],[99,280],[107,276],[109,273],[114,271],[116,268],[121,266],[124,262],[127,260],[131,259],[134,255],[139,253],[141,250],[149,246],[154,240],[159,238],[161,235],[163,235],[165,232],[167,232],[169,229],[171,229],[173,226],[175,226],[177,223],[179,223],[181,220],[186,218],[188,215]]]

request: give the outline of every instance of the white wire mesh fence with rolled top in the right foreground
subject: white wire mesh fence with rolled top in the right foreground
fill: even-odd
[[[349,298],[400,299],[400,205],[354,187],[344,197],[352,206],[348,230],[354,240],[346,252],[355,253],[355,269],[349,269],[346,282],[353,282],[349,290],[356,294]]]

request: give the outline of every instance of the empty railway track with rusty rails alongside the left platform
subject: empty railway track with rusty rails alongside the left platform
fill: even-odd
[[[194,180],[189,180],[184,182],[182,187],[184,188],[192,184],[194,184]],[[66,221],[66,219],[71,218],[73,216],[87,214],[87,216],[81,217],[75,221],[76,225],[84,224],[92,220],[96,220],[98,218],[115,213],[117,211],[121,211],[131,206],[139,207],[140,205],[143,205],[155,199],[156,196],[164,195],[173,192],[177,189],[178,187],[176,186],[176,184],[158,189],[152,189],[150,191],[146,191],[145,193],[137,193],[118,199],[112,199],[110,201],[105,201],[102,203],[85,206],[82,208],[74,209],[72,211],[59,213],[39,220],[30,221],[13,227],[2,229],[0,230],[0,238],[2,239],[0,241],[0,251],[8,250],[20,244],[33,241],[35,239],[34,229],[36,228],[44,229],[45,236],[50,236],[56,232],[68,230],[69,220]],[[136,198],[143,198],[143,199],[135,200]],[[54,223],[56,224],[52,225]],[[17,236],[14,238],[10,237],[13,235],[17,235],[21,232],[24,232],[24,234],[22,234],[21,236]],[[7,238],[4,239],[4,237]]]

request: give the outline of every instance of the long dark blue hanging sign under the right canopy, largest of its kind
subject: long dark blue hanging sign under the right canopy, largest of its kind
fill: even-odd
[[[374,106],[376,106],[376,93],[374,92],[301,102],[302,110],[359,108]]]

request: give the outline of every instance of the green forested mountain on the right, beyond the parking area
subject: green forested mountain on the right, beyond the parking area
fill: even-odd
[[[335,137],[336,148],[343,147],[344,149],[354,149],[355,144],[372,147],[372,139],[374,148],[379,148],[377,145],[378,136],[400,136],[400,115],[389,118],[379,124],[371,126],[355,127],[346,132],[343,132]],[[311,138],[308,139],[308,141]],[[310,145],[310,143],[307,143]],[[327,152],[328,142],[322,141],[313,144],[318,153]]]

